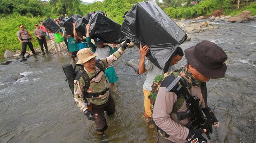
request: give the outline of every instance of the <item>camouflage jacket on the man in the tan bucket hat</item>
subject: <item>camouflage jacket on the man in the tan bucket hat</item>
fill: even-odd
[[[112,62],[118,60],[123,53],[123,49],[119,48],[115,53],[110,55],[109,57],[102,58],[100,59],[100,64],[104,67],[104,70],[109,67],[109,65],[112,64]],[[95,66],[96,73],[100,71],[99,67]],[[89,78],[92,76],[95,76],[95,72],[91,73],[88,72],[86,69],[85,71],[87,72]],[[84,97],[83,97],[83,88],[85,86],[85,81],[83,80],[83,77],[80,77],[79,80],[74,80],[74,99],[76,101],[76,105],[78,108],[80,108],[81,111],[85,111],[88,109],[87,103],[85,103]],[[106,78],[105,74],[103,71],[100,72],[95,78],[92,78],[90,81],[90,87],[88,88],[87,92],[88,93],[97,93],[97,92],[102,92],[107,88],[107,83],[106,83]],[[88,102],[92,102],[92,104],[96,105],[102,105],[107,102],[109,99],[109,91],[107,91],[104,95],[100,95],[95,99],[95,101],[92,101],[92,99],[88,99]]]

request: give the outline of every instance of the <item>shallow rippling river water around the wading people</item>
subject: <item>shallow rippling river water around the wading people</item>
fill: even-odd
[[[188,21],[187,21],[188,22]],[[256,21],[213,23],[219,29],[191,34],[183,50],[207,39],[228,55],[224,78],[208,83],[208,104],[220,121],[211,143],[256,142]],[[67,53],[39,55],[26,62],[0,65],[0,143],[154,143],[156,129],[142,119],[142,86],[146,74],[137,75],[125,62],[139,62],[137,48],[129,48],[114,63],[119,81],[112,92],[116,113],[107,117],[104,136],[95,132],[74,103],[62,65]],[[178,67],[185,64],[185,57]],[[12,80],[15,74],[25,77]]]

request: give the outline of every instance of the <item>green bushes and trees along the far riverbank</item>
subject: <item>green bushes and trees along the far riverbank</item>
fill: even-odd
[[[21,50],[17,40],[18,25],[25,25],[25,29],[33,32],[34,24],[47,17],[58,18],[60,14],[86,15],[88,12],[104,11],[107,16],[117,23],[123,21],[123,13],[128,11],[135,3],[143,0],[103,0],[88,4],[81,0],[0,0],[0,55],[5,50]],[[251,11],[256,15],[256,2],[248,0],[163,0],[156,2],[171,18],[194,18],[209,16],[217,9],[225,15],[240,14],[243,10]],[[237,8],[239,2],[239,9]],[[197,2],[197,5],[192,5]],[[183,6],[182,6],[183,5]],[[35,37],[34,37],[35,38]],[[36,39],[36,38],[35,38]],[[37,40],[34,44],[38,47]]]

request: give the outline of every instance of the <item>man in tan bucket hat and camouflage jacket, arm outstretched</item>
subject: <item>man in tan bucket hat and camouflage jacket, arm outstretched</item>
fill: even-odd
[[[77,53],[76,64],[83,64],[81,73],[87,74],[89,84],[84,80],[86,75],[78,74],[74,80],[74,99],[87,118],[95,121],[97,134],[103,134],[108,127],[104,111],[107,115],[112,115],[116,111],[114,99],[107,88],[104,70],[120,58],[127,46],[128,42],[125,42],[113,55],[97,61],[97,53],[93,54],[90,48],[83,48]]]

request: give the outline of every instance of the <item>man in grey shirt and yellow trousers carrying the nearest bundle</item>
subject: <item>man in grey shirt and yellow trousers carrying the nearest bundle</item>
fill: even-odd
[[[150,100],[149,100],[149,94],[151,93],[151,85],[153,83],[154,78],[158,74],[164,74],[162,69],[159,69],[156,67],[152,62],[147,60],[145,62],[145,57],[147,55],[147,51],[149,50],[148,46],[143,46],[140,44],[140,62],[139,62],[139,74],[143,74],[147,71],[147,78],[143,85],[143,94],[144,94],[144,116],[145,118],[151,118],[152,117],[152,111],[150,109]],[[170,62],[170,67],[168,71],[174,71],[175,70],[175,64],[180,61],[184,55],[182,49],[178,47],[173,54],[172,60]]]

